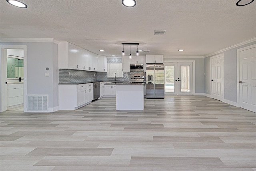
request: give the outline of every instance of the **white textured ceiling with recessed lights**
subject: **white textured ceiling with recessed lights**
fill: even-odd
[[[256,1],[238,7],[237,0],[136,0],[133,8],[122,0],[20,1],[28,8],[0,0],[1,39],[53,38],[105,56],[120,56],[122,42],[150,50],[140,55],[206,56],[256,37]],[[131,49],[135,55],[137,46]]]

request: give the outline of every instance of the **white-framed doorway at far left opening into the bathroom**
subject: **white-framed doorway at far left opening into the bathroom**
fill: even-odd
[[[25,111],[26,46],[1,46],[0,111]]]

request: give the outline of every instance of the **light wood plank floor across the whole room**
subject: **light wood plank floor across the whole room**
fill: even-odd
[[[255,171],[256,113],[204,96],[0,114],[0,170]]]

